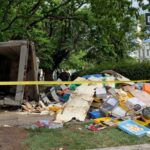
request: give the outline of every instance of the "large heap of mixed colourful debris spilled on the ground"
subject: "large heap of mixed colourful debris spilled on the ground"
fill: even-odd
[[[53,86],[48,92],[41,94],[38,105],[30,106],[26,103],[22,105],[23,110],[53,114],[54,122],[60,124],[72,119],[93,119],[93,124],[86,126],[92,131],[118,126],[132,135],[149,134],[149,128],[144,127],[150,124],[149,83],[130,82],[112,70],[78,77],[76,81],[87,81],[87,84]],[[89,84],[88,81],[94,83]]]

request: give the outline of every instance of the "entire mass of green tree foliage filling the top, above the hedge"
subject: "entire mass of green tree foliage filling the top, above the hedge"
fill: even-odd
[[[0,41],[33,41],[44,69],[86,68],[134,49],[137,14],[130,0],[1,0]]]

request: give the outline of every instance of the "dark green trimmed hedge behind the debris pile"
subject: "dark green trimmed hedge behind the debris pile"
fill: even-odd
[[[114,70],[131,80],[150,79],[150,61],[145,62],[104,62],[94,67],[76,72],[76,76],[100,73],[103,70]]]

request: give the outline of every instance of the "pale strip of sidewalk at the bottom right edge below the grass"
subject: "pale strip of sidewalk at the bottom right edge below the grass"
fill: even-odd
[[[150,144],[97,148],[97,149],[91,149],[91,150],[150,150]]]

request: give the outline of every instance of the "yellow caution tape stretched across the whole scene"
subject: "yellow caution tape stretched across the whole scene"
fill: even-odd
[[[59,85],[59,84],[108,84],[108,83],[129,83],[129,82],[150,82],[150,80],[113,80],[113,81],[2,81],[0,85]]]

